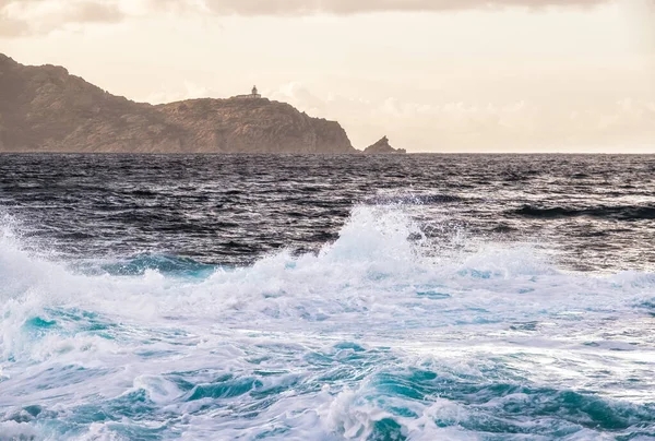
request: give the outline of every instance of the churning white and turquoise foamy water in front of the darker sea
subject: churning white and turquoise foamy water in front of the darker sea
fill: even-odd
[[[0,236],[0,440],[655,438],[654,274],[446,252],[377,206],[318,254],[249,266],[73,264],[19,236]]]

